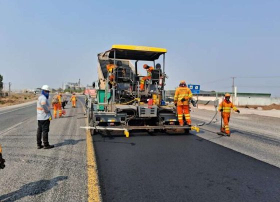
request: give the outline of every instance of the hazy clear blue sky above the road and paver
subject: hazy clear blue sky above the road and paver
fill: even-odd
[[[86,85],[98,52],[135,44],[167,48],[166,89],[185,79],[231,91],[237,76],[239,92],[280,96],[279,10],[278,0],[0,0],[0,74],[13,89]]]

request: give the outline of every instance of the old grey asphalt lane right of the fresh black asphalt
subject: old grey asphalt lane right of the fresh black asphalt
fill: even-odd
[[[219,136],[216,134],[219,128],[220,126],[218,124],[205,124],[200,127],[200,132],[197,135],[211,142],[280,167],[279,137],[274,135],[270,136],[262,132],[254,133],[244,131],[238,125],[230,126],[230,137]]]

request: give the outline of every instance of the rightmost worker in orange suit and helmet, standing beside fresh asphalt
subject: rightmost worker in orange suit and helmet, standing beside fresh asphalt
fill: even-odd
[[[218,107],[218,111],[221,112],[221,116],[223,119],[223,126],[221,127],[220,131],[226,133],[227,136],[230,136],[230,131],[228,127],[228,122],[230,118],[230,109],[232,108],[237,113],[240,113],[240,111],[236,108],[236,106],[234,106],[234,104],[230,102],[229,98],[230,98],[230,94],[225,93],[224,100],[222,100],[219,103],[219,107]]]

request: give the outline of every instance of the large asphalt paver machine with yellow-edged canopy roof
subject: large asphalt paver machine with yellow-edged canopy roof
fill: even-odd
[[[111,49],[97,54],[97,95],[89,102],[87,127],[92,135],[114,130],[122,130],[126,137],[133,130],[148,133],[178,128],[185,132],[199,131],[196,126],[179,126],[176,108],[165,104],[166,52],[165,48],[158,47],[112,45]],[[114,66],[112,72],[106,68],[109,61]],[[146,75],[139,75],[137,64],[143,61],[153,63],[153,67],[155,62],[161,65],[150,72],[140,90],[140,81]]]

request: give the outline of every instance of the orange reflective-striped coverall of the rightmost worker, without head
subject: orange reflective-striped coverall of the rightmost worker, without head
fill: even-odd
[[[221,132],[225,132],[226,134],[229,134],[229,118],[230,118],[230,108],[232,108],[234,111],[237,110],[237,108],[232,104],[230,101],[226,101],[225,99],[219,103],[218,111],[220,109],[223,109],[222,111],[222,119],[223,119],[223,126],[221,128]]]

